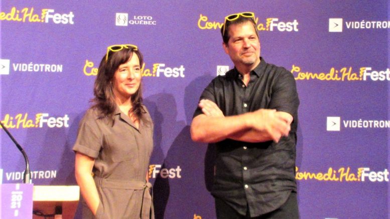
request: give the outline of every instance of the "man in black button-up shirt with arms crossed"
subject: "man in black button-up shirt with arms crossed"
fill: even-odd
[[[216,143],[217,218],[299,218],[293,75],[260,57],[253,13],[227,16],[222,46],[234,69],[203,91],[191,138]]]

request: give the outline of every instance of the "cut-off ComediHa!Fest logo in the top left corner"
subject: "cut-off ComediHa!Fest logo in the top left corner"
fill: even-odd
[[[38,13],[38,14],[37,14]],[[54,23],[73,25],[73,12],[56,13],[54,9],[42,9],[40,12],[34,8],[18,9],[12,7],[10,11],[0,12],[0,21]]]

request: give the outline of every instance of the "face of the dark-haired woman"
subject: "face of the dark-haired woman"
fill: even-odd
[[[116,98],[129,99],[135,94],[141,83],[140,59],[136,53],[114,73],[113,90]]]

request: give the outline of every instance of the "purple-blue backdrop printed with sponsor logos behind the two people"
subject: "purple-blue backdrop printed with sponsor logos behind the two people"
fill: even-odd
[[[231,69],[226,15],[254,12],[262,56],[294,75],[302,218],[389,218],[390,2],[0,1],[0,120],[30,158],[35,185],[74,185],[71,150],[98,64],[113,44],[145,56],[155,123],[149,175],[157,218],[215,218],[213,149],[191,141],[202,90]],[[0,134],[0,179],[24,160]]]

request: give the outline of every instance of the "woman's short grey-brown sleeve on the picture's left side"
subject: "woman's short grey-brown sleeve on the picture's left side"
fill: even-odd
[[[102,146],[102,135],[99,134],[97,125],[88,124],[88,119],[85,117],[87,116],[84,116],[80,122],[73,151],[97,158]]]

